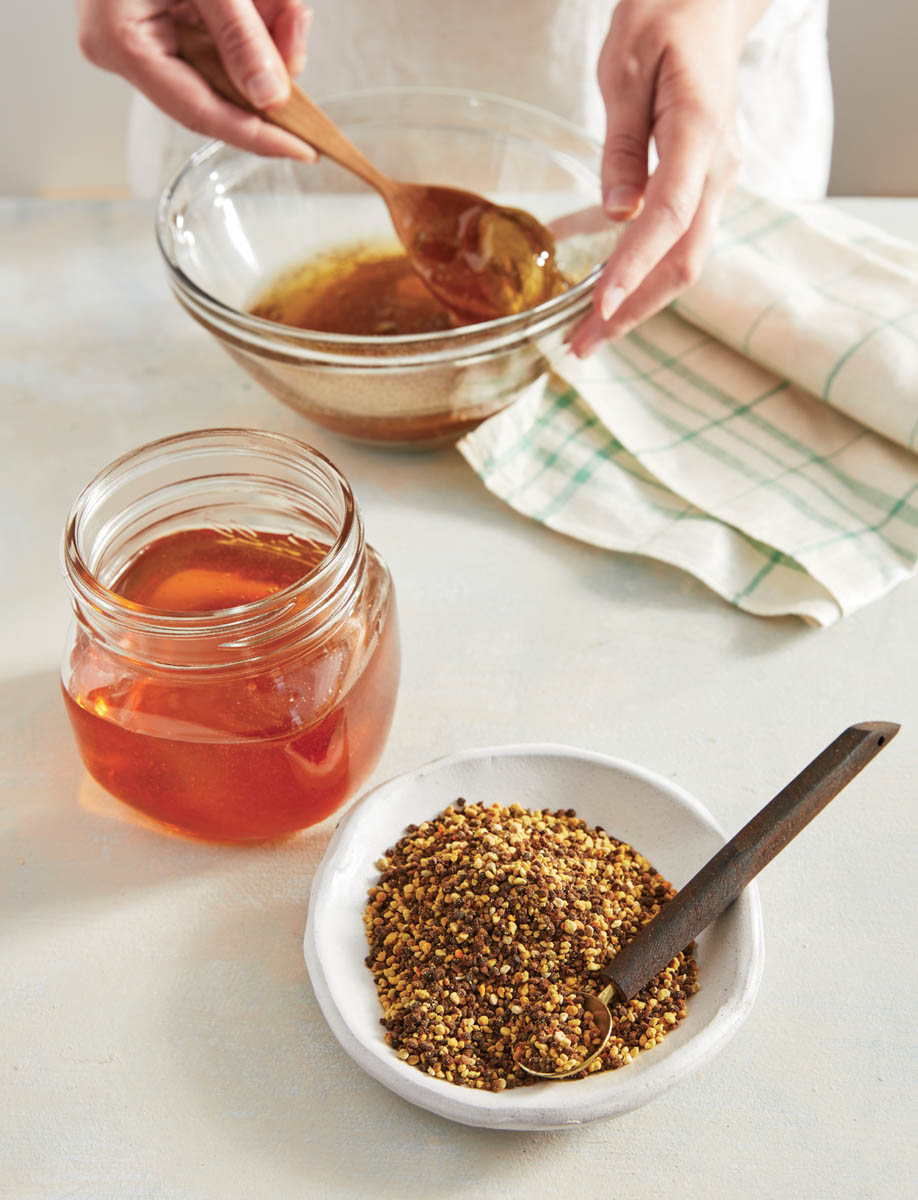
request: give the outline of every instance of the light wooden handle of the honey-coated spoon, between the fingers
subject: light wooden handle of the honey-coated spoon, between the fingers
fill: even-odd
[[[386,194],[390,180],[368,162],[353,142],[344,137],[331,118],[313,104],[310,97],[296,84],[290,84],[290,95],[283,104],[274,108],[256,108],[235,86],[223,67],[217,48],[210,34],[198,25],[175,23],[179,38],[179,55],[191,64],[203,76],[210,86],[224,100],[247,113],[257,113],[265,121],[278,125],[294,137],[308,142],[329,158],[334,158],[347,170],[352,170],[362,180]]]

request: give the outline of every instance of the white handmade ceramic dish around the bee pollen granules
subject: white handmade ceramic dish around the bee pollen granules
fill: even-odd
[[[764,961],[762,914],[750,884],[697,943],[701,990],[661,1045],[619,1070],[502,1093],[448,1084],[409,1067],[386,1045],[362,913],[377,858],[412,822],[458,797],[481,804],[572,808],[631,842],[677,887],[725,841],[710,814],[674,784],[634,763],[558,745],[498,746],[439,758],[367,793],[342,818],[312,884],[304,950],[332,1032],[374,1079],[463,1124],[553,1129],[620,1116],[715,1055],[755,1001]]]

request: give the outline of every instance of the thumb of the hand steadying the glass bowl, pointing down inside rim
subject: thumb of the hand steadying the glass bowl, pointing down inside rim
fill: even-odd
[[[641,206],[647,186],[653,82],[642,72],[614,61],[604,62],[600,77],[606,104],[602,151],[602,208],[613,221],[626,221]]]

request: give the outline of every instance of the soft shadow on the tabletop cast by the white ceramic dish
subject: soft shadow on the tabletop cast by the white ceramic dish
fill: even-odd
[[[275,876],[227,918],[214,911],[176,947],[164,1020],[186,1036],[172,1064],[205,1127],[264,1162],[265,1187],[301,1176],[302,1194],[514,1194],[527,1164],[557,1154],[582,1130],[473,1129],[415,1108],[366,1075],[319,1009],[302,959],[306,906]],[[200,1014],[206,1026],[200,1026]],[[253,1019],[256,1018],[257,1019]],[[527,1168],[528,1169],[528,1168]]]

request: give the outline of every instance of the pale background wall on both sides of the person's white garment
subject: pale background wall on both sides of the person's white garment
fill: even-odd
[[[2,10],[0,194],[122,191],[128,89],[79,56],[72,0]],[[829,38],[832,192],[918,196],[918,2],[830,0]]]

